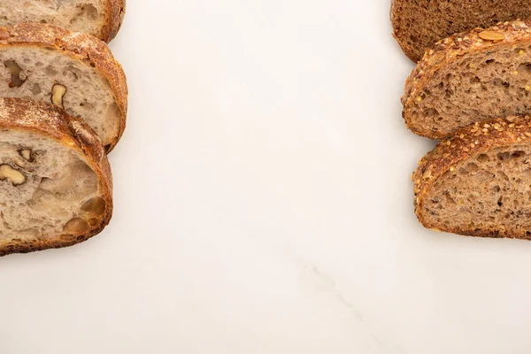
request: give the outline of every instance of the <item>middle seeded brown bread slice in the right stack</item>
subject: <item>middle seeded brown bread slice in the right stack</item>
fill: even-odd
[[[476,121],[531,113],[531,21],[452,35],[406,82],[404,119],[441,139]]]

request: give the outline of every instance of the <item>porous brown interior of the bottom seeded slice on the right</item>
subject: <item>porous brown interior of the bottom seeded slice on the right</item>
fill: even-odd
[[[428,187],[420,210],[430,227],[531,235],[531,145],[468,158]]]

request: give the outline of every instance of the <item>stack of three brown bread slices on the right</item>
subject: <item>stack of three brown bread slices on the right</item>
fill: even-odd
[[[511,19],[531,1],[442,3],[396,0],[392,10],[406,54],[427,48],[405,85],[406,125],[440,140],[413,173],[416,213],[440,231],[531,239],[531,20]],[[487,27],[492,19],[506,21]]]

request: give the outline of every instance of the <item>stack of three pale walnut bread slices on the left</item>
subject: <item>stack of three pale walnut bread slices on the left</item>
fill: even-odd
[[[0,255],[72,245],[112,216],[127,82],[106,42],[125,0],[0,7]]]

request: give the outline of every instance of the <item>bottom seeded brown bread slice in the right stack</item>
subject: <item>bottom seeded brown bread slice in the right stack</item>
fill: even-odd
[[[491,119],[458,130],[413,173],[427,228],[531,240],[531,120]]]

